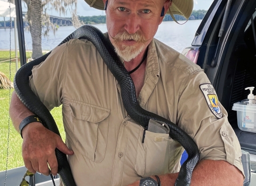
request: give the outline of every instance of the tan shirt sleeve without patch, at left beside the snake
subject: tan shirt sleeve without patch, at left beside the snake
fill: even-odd
[[[65,44],[53,49],[44,62],[33,67],[29,77],[30,88],[50,111],[61,105],[65,74]]]

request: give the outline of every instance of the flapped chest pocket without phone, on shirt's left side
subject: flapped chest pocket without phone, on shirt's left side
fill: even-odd
[[[72,100],[74,136],[77,150],[93,162],[104,159],[110,109]]]

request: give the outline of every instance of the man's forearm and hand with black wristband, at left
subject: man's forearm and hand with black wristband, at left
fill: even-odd
[[[10,104],[10,116],[13,125],[19,131],[19,125],[26,117],[34,115],[21,103],[15,92]],[[22,129],[22,157],[27,169],[32,173],[49,175],[49,167],[53,175],[58,173],[58,162],[55,149],[62,153],[73,155],[74,152],[66,146],[58,134],[46,129],[39,122],[29,123]]]

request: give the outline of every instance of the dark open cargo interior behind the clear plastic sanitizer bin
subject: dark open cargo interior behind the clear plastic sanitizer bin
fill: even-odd
[[[225,46],[229,48],[229,52],[223,56],[225,63],[222,63],[215,83],[218,87],[217,94],[221,95],[221,103],[228,111],[228,120],[237,134],[241,147],[256,154],[256,133],[239,130],[237,112],[232,110],[234,103],[247,98],[249,91],[245,88],[256,87],[256,43],[253,36],[256,23],[255,8],[250,12],[250,14],[241,16],[241,19],[237,21],[239,26],[233,33],[230,33],[233,39],[230,38]],[[251,22],[252,19],[254,24]],[[253,94],[255,93],[254,90]]]

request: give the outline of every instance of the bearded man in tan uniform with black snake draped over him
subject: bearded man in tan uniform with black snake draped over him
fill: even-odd
[[[140,105],[196,142],[201,154],[191,185],[243,185],[241,148],[210,81],[200,67],[154,39],[169,7],[188,18],[193,0],[91,1],[86,0],[105,7],[106,36],[131,73]],[[41,123],[27,124],[22,156],[29,171],[48,175],[48,163],[57,174],[58,148],[68,155],[77,185],[142,185],[142,177],[156,182],[154,175],[161,185],[174,185],[183,148],[166,133],[143,135],[145,129],[125,111],[119,83],[89,41],[55,48],[34,68],[30,86],[47,108],[62,104],[67,146]],[[19,130],[34,114],[14,93],[10,115]]]

